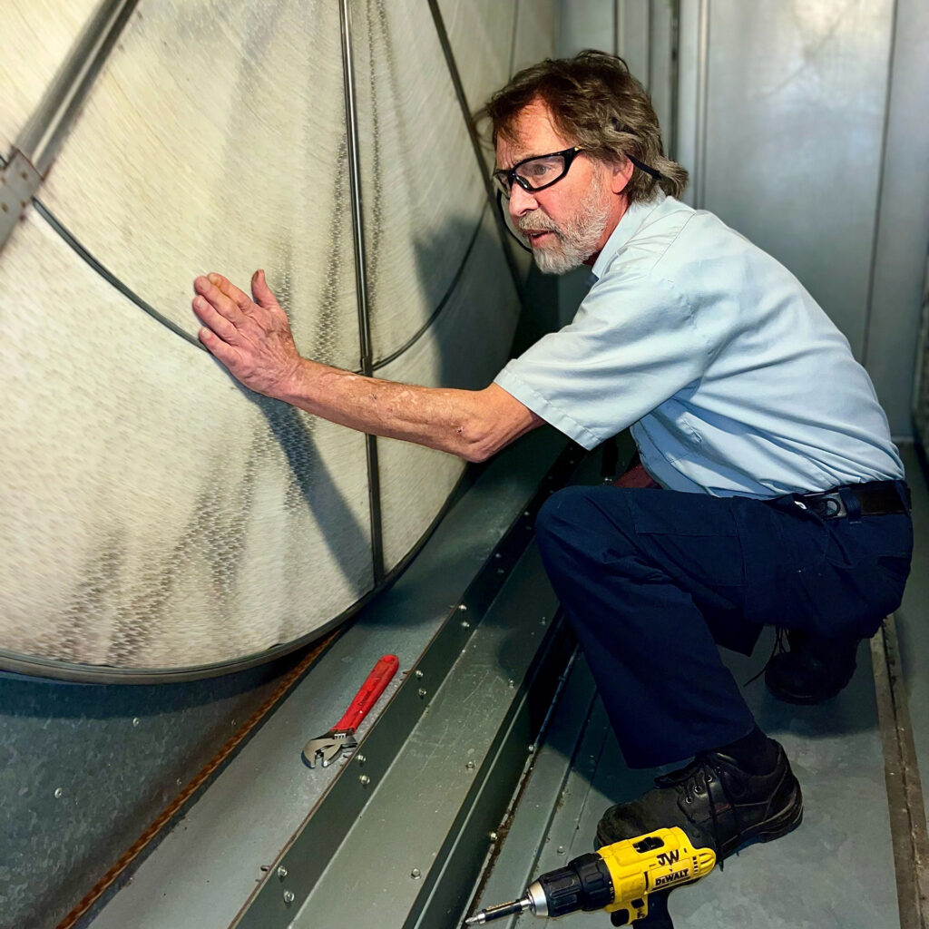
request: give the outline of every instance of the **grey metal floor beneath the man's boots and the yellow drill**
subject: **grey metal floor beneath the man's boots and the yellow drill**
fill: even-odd
[[[906,598],[896,617],[913,738],[929,770],[929,492],[911,448],[905,449],[913,490],[917,544]],[[752,659],[727,656],[737,680],[756,674],[773,635]],[[773,700],[761,679],[746,687],[759,725],[779,739],[805,797],[802,826],[771,844],[755,844],[726,861],[702,882],[676,891],[670,911],[688,929],[898,929],[891,817],[884,774],[874,675],[862,643],[852,683],[818,707]],[[608,805],[648,790],[661,770],[626,767],[586,663],[578,656],[556,706],[530,777],[523,786],[505,838],[491,857],[470,911],[514,899],[535,875],[593,848],[598,818]],[[528,914],[500,929],[541,924]],[[608,925],[602,913],[576,913],[559,929]]]

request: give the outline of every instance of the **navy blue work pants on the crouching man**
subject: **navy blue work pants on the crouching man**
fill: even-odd
[[[846,505],[849,517],[822,520],[792,497],[612,486],[546,501],[545,568],[629,765],[683,760],[752,730],[717,645],[750,654],[766,624],[865,638],[899,606],[909,516]]]

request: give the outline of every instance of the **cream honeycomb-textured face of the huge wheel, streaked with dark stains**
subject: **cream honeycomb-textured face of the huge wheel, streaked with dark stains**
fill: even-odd
[[[479,10],[442,6],[466,55]],[[7,148],[68,46],[22,9]],[[352,22],[376,373],[485,386],[517,296],[429,9]],[[338,6],[142,0],[38,200],[0,252],[0,654],[131,680],[311,638],[374,586],[365,438],[231,380],[190,281],[266,268],[302,353],[359,369]],[[378,450],[390,570],[463,464]]]

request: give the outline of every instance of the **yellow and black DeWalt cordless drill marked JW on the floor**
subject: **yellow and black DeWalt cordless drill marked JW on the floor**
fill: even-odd
[[[614,926],[673,929],[668,894],[705,877],[716,864],[712,848],[696,848],[674,827],[624,839],[547,871],[512,903],[481,909],[465,925],[483,925],[523,913],[564,916],[578,909],[605,909]]]

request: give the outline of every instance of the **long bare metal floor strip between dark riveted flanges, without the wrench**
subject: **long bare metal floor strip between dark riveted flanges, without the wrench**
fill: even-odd
[[[430,697],[427,712],[376,785],[337,856],[294,913],[294,929],[361,925],[374,913],[392,927],[457,922],[460,909],[449,901],[455,891],[466,893],[468,871],[451,876],[450,892],[442,885],[446,862],[464,851],[477,854],[479,864],[484,848],[478,834],[466,832],[459,846],[459,831],[466,828],[476,796],[493,783],[497,753],[507,744],[516,749],[518,760],[511,759],[511,765],[515,762],[517,771],[528,757],[532,727],[528,720],[517,721],[518,698],[523,687],[530,687],[537,651],[556,608],[533,545],[448,679]],[[543,716],[544,709],[537,725]],[[508,739],[511,726],[517,730]],[[502,778],[502,771],[496,777]],[[513,786],[511,780],[510,790]],[[498,811],[504,805],[505,796]],[[492,820],[485,823],[485,836],[491,825]],[[251,924],[286,923],[266,917]]]

